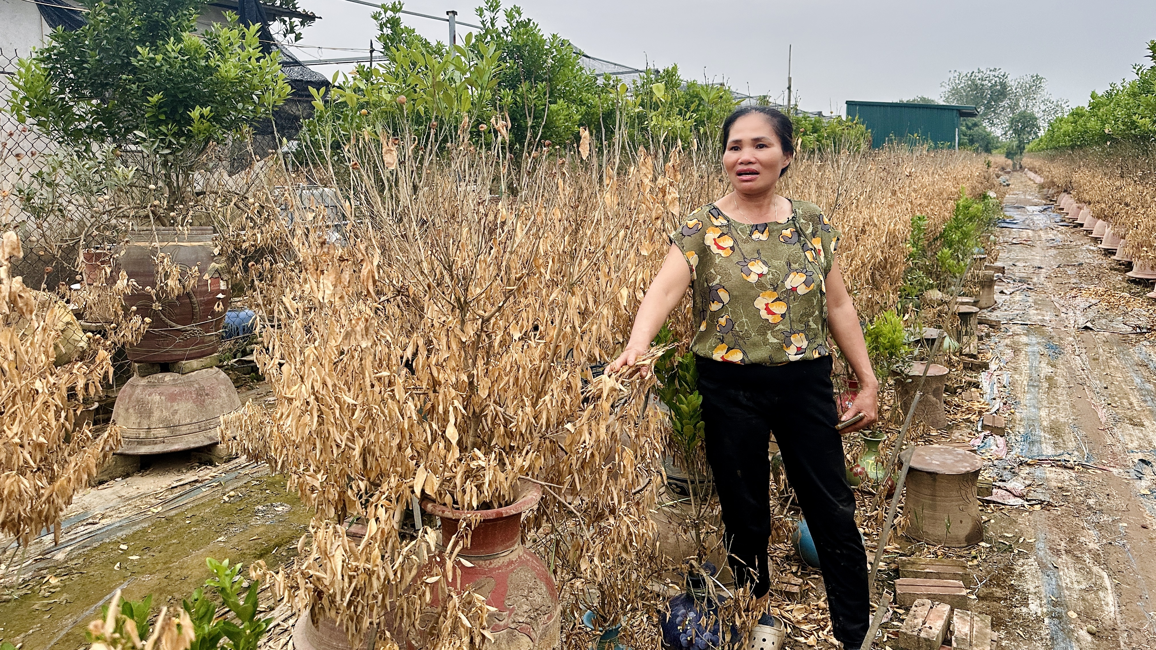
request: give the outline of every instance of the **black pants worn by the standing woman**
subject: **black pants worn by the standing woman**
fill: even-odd
[[[768,459],[775,433],[823,569],[835,637],[858,648],[870,614],[867,560],[855,526],[831,387],[831,357],[784,365],[739,365],[699,356],[698,392],[706,458],[722,507],[724,541],[740,585],[770,588]]]

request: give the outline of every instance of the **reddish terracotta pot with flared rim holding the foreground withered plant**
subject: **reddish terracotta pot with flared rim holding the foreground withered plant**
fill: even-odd
[[[422,509],[442,519],[443,545],[458,532],[464,518],[477,522],[469,546],[459,554],[469,564],[455,563],[451,586],[458,590],[473,586],[476,593],[486,597],[490,607],[496,608],[488,619],[494,635],[488,647],[495,650],[557,648],[562,635],[558,590],[546,563],[521,545],[521,514],[538,505],[542,486],[521,481],[514,497],[511,505],[492,510],[454,510],[428,498],[422,500]],[[445,557],[436,555],[429,564],[445,564]],[[437,610],[439,606],[440,594],[435,592],[430,607]],[[431,622],[432,615],[422,616],[418,629],[399,630],[394,638],[406,638],[413,649],[424,648],[425,630]]]

